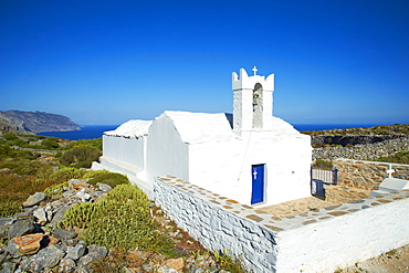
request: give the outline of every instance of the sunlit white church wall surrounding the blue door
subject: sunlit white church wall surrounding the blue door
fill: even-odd
[[[265,164],[265,206],[311,196],[310,138],[265,137],[271,135],[252,132],[241,139],[190,145],[187,180],[250,204],[252,165]]]

